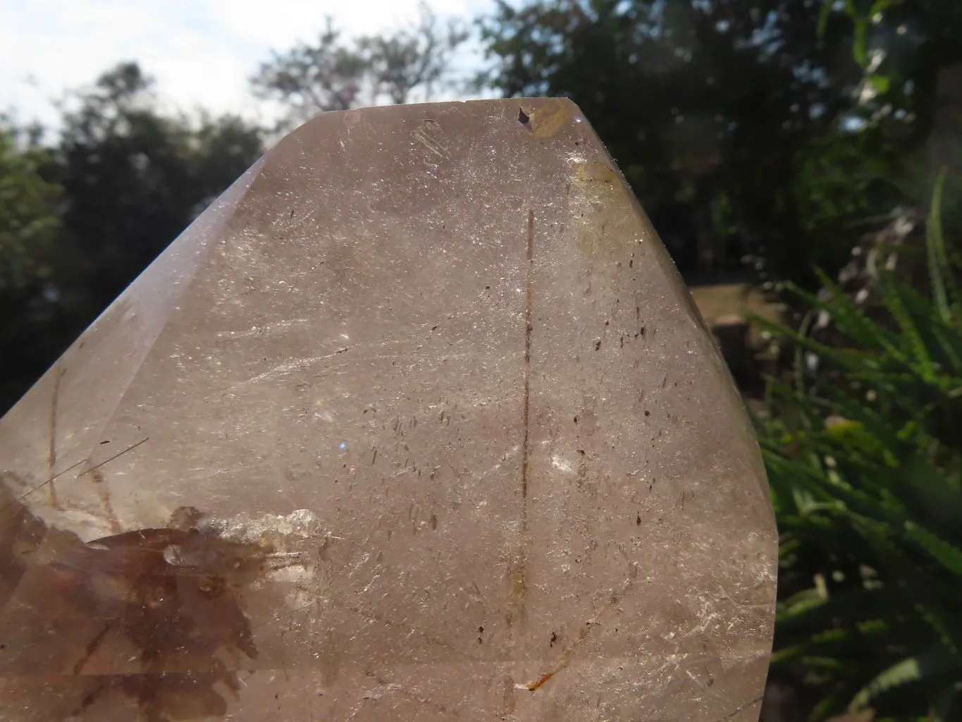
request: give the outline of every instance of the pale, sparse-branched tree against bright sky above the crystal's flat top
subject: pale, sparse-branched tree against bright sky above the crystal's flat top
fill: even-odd
[[[466,39],[458,21],[443,21],[423,3],[415,24],[383,36],[343,39],[328,18],[316,44],[275,52],[251,86],[280,103],[285,124],[361,104],[425,101],[449,84],[452,57]]]

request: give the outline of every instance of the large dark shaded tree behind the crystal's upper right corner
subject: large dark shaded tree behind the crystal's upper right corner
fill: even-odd
[[[481,21],[505,95],[568,95],[685,271],[812,286],[890,202],[849,127],[862,71],[814,0],[500,0]],[[889,161],[880,158],[883,165]]]

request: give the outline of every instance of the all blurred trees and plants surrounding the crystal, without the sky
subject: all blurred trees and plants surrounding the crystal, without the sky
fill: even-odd
[[[463,43],[485,60],[467,73]],[[0,118],[0,410],[277,134],[328,110],[565,95],[693,286],[781,532],[763,719],[962,720],[962,2],[519,0],[266,58],[276,127],[131,62]]]

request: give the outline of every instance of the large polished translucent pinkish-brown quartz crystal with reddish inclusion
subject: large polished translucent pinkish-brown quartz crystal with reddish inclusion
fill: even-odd
[[[741,401],[562,100],[320,116],[0,422],[0,719],[755,720]]]

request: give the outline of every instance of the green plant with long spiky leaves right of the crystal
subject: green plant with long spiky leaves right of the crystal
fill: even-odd
[[[886,272],[871,316],[827,277],[820,297],[793,289],[841,344],[756,320],[797,352],[758,432],[781,533],[772,671],[796,673],[811,720],[962,720],[962,294],[944,180],[930,288]]]

